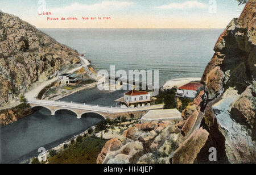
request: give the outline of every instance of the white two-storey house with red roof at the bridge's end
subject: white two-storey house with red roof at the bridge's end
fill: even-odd
[[[121,107],[140,108],[150,106],[151,95],[147,91],[130,90],[116,100]]]

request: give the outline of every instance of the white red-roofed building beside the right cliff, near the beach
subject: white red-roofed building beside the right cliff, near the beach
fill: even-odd
[[[203,88],[199,82],[189,82],[177,88],[177,97],[196,98],[197,91]]]

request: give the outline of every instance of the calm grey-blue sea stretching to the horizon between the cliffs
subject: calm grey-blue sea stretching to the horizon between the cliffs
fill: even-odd
[[[201,77],[223,29],[40,28],[79,53],[97,71],[159,70],[159,84]]]

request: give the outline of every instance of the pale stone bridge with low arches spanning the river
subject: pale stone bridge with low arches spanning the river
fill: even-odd
[[[104,119],[108,116],[109,118],[116,118],[117,116],[124,115],[127,113],[141,113],[143,111],[163,109],[163,105],[153,105],[150,107],[144,107],[141,109],[129,109],[121,107],[105,107],[97,105],[86,105],[82,103],[73,103],[73,102],[62,102],[62,101],[45,101],[32,99],[28,100],[31,108],[34,107],[45,107],[51,111],[51,115],[59,110],[69,110],[77,115],[77,118],[80,119],[83,114],[86,113],[96,113],[101,115]]]

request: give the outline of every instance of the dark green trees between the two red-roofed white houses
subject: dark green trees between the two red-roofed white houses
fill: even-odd
[[[174,109],[177,107],[176,103],[176,88],[159,90],[159,94],[156,97],[156,104],[164,103],[164,109]]]

